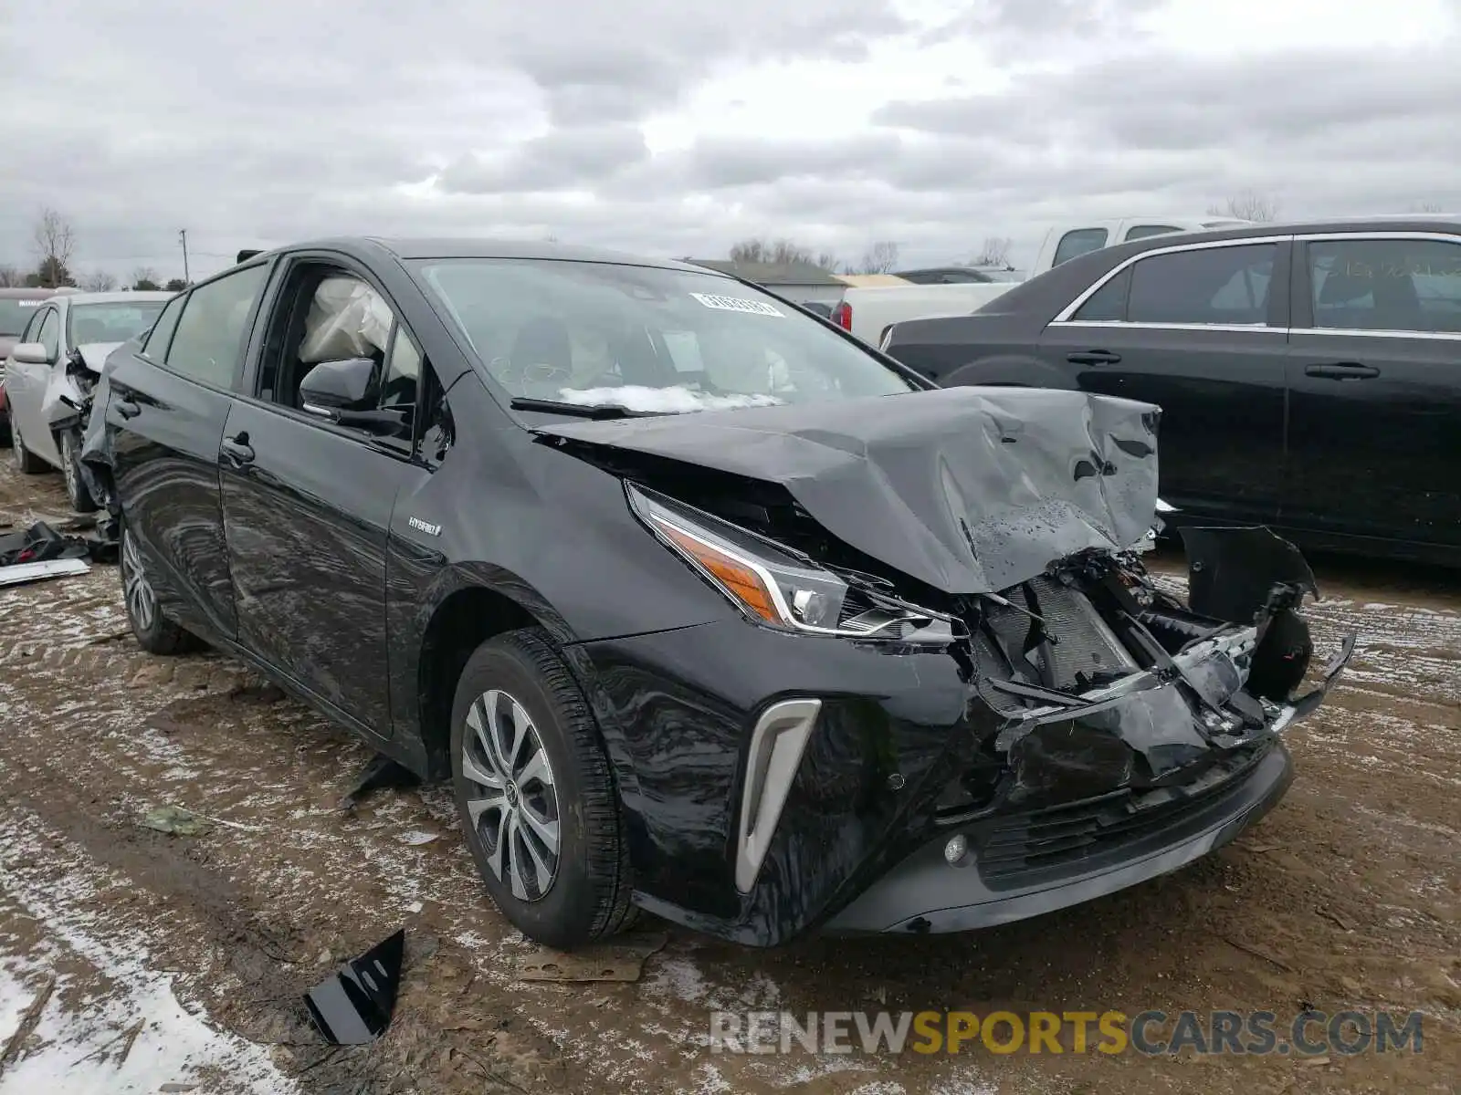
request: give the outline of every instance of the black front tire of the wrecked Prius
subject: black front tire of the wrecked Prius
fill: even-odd
[[[503,727],[497,759],[487,753],[485,739],[468,721],[470,715],[475,726],[488,726],[481,704],[494,694],[501,712],[498,726]],[[535,783],[524,772],[523,790],[517,790],[514,765],[501,749],[516,723],[511,701],[530,720],[530,733],[522,733],[519,756],[527,759],[522,768],[538,765],[536,745],[546,761],[549,784]],[[478,775],[501,771],[504,764],[507,771],[514,772],[503,791],[491,790],[488,783],[473,783],[463,774],[469,743]],[[614,771],[593,712],[541,628],[498,635],[468,658],[451,705],[451,783],[462,831],[487,892],[523,934],[568,950],[615,934],[630,924],[636,910],[630,904],[628,840]],[[535,866],[548,861],[543,854],[548,845],[538,842],[538,858],[529,858],[527,847],[514,842],[519,840],[514,832],[529,834],[523,819],[529,810],[535,818],[549,813],[548,787],[552,791],[558,848],[551,863],[552,873],[539,892]],[[481,807],[488,802],[494,804]],[[479,806],[476,822],[469,803]],[[504,853],[495,860],[498,867],[494,867],[489,841]],[[524,870],[517,870],[517,860],[507,854],[508,848],[519,853],[517,860]],[[513,892],[514,882],[526,896]]]

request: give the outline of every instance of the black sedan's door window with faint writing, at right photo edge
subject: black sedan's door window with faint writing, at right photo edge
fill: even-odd
[[[1315,327],[1461,333],[1461,242],[1312,242],[1309,288]]]

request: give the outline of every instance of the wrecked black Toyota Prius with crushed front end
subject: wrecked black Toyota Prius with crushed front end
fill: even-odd
[[[107,362],[139,642],[207,642],[422,778],[503,912],[768,946],[1173,870],[1284,793],[1313,577],[1143,566],[1157,407],[938,390],[709,270],[548,245],[245,257]]]

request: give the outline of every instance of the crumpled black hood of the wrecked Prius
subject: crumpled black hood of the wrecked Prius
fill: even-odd
[[[842,542],[945,593],[1029,581],[1151,527],[1150,403],[958,387],[535,432],[780,483]]]

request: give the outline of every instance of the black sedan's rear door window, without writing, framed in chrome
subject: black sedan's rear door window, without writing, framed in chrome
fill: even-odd
[[[1264,324],[1277,244],[1205,247],[1138,260],[1131,323]]]

